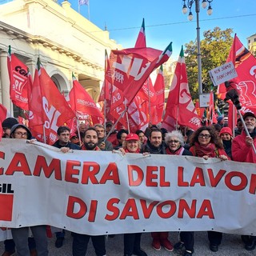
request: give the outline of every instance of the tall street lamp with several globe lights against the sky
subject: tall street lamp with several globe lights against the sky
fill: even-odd
[[[197,44],[198,44],[198,92],[199,95],[202,94],[202,62],[201,62],[201,50],[200,50],[200,26],[199,26],[199,12],[200,12],[200,6],[199,6],[199,1],[200,0],[182,0],[183,1],[183,7],[182,7],[182,13],[186,14],[187,13],[187,6],[190,9],[189,15],[188,15],[188,19],[190,21],[192,21],[193,19],[193,14],[191,11],[191,8],[195,2],[195,12],[197,13]],[[187,4],[186,4],[187,2]],[[202,8],[206,8],[208,6],[207,9],[207,14],[211,15],[213,13],[213,9],[211,8],[211,2],[213,2],[213,0],[202,0]]]

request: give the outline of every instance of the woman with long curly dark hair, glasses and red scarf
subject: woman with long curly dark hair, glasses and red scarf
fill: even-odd
[[[216,131],[210,126],[202,126],[194,131],[190,138],[190,152],[199,158],[220,158],[222,160],[230,159]],[[222,242],[222,233],[208,231],[210,241],[210,250],[218,251],[218,246]]]

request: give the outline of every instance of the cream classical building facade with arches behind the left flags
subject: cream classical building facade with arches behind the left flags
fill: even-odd
[[[0,8],[0,103],[10,113],[7,52],[14,53],[34,76],[38,58],[65,94],[72,87],[72,73],[98,101],[104,80],[105,50],[122,49],[109,32],[101,30],[71,8],[52,0],[14,0]]]

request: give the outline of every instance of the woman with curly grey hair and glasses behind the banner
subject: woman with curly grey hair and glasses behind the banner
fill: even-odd
[[[174,130],[171,133],[167,133],[165,136],[166,142],[166,154],[172,155],[192,155],[190,150],[186,150],[184,145],[183,135],[178,131]],[[174,249],[182,249],[185,247],[185,253],[183,256],[190,256],[194,253],[194,232],[193,231],[182,231],[180,233],[180,242],[174,245]]]

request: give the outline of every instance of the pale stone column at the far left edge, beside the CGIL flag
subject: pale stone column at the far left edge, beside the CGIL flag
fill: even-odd
[[[0,52],[0,80],[2,86],[2,105],[6,107],[6,109],[13,114],[13,106],[10,101],[10,79],[8,74],[7,67],[7,52]]]

